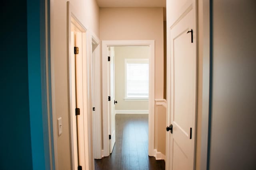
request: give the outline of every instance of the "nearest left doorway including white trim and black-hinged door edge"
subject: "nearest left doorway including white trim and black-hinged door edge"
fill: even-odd
[[[86,81],[86,28],[75,17],[74,9],[67,2],[68,7],[68,88],[70,109],[70,143],[72,169],[86,168],[88,132],[84,126],[87,121],[87,81]]]

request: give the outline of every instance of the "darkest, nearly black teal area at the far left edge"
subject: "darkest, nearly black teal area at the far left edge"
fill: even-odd
[[[32,169],[26,0],[1,2],[0,169]]]

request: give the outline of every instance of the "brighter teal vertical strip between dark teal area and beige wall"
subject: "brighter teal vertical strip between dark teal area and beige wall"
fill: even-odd
[[[42,98],[45,73],[45,34],[44,34],[44,0],[27,0],[27,36],[28,36],[28,91],[30,104],[30,131],[32,162],[34,170],[48,170],[49,145],[46,98]],[[46,85],[45,85],[46,86]],[[42,106],[44,100],[44,106]],[[44,107],[44,109],[43,109]],[[43,121],[43,118],[46,120]],[[44,139],[45,137],[45,139]],[[46,145],[44,145],[44,140]],[[45,159],[46,156],[46,159]],[[47,168],[46,165],[47,164]]]

